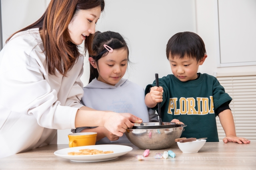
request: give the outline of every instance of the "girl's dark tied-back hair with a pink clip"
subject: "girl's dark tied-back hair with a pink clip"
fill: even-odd
[[[98,64],[98,60],[106,55],[108,55],[108,50],[103,46],[104,44],[114,49],[126,49],[128,53],[128,62],[129,62],[129,49],[128,46],[120,33],[106,31],[100,32],[97,31],[94,34],[94,39],[92,42],[92,49],[94,51],[94,55],[90,55],[94,61]],[[97,68],[94,68],[92,64],[90,64],[90,78],[89,83],[94,79],[98,78],[99,73]]]

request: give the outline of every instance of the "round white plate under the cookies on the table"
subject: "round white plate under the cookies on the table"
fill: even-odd
[[[109,154],[94,154],[94,155],[68,155],[68,152],[79,152],[80,149],[98,149],[104,151],[112,150],[114,153]],[[56,156],[61,158],[70,159],[73,162],[100,162],[112,160],[127,154],[132,150],[132,147],[124,145],[90,145],[83,147],[72,147],[60,149],[54,152]]]

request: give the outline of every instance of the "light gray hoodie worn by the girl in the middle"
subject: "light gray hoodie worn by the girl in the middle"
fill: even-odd
[[[122,78],[115,86],[94,79],[84,87],[84,96],[81,103],[96,110],[131,113],[140,117],[143,122],[158,121],[155,111],[145,105],[144,98],[144,89],[128,79]],[[79,133],[88,128],[95,127],[78,127],[72,129],[72,132]],[[101,143],[130,142],[124,134],[117,141],[110,141],[107,137],[104,137],[96,144]]]

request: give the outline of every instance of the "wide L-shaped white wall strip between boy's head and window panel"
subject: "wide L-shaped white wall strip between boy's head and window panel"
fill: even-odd
[[[202,37],[206,46],[208,57],[204,64],[199,67],[199,71],[213,75],[215,73],[239,73],[256,71],[256,66],[231,66],[231,67],[217,67],[218,61],[218,44],[216,41],[218,36],[216,34],[216,9],[214,5],[216,0],[196,0],[196,22],[197,33]],[[248,49],[250,50],[250,49]]]

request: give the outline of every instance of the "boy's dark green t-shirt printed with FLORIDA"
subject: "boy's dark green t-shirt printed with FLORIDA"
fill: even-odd
[[[159,86],[164,89],[162,121],[178,119],[187,125],[181,137],[207,137],[207,142],[218,142],[214,110],[225,102],[230,103],[232,98],[225,93],[214,76],[198,74],[198,79],[186,82],[180,81],[173,74],[159,78]],[[153,86],[156,86],[156,81],[146,86],[145,95]],[[152,109],[158,110],[157,105]]]

